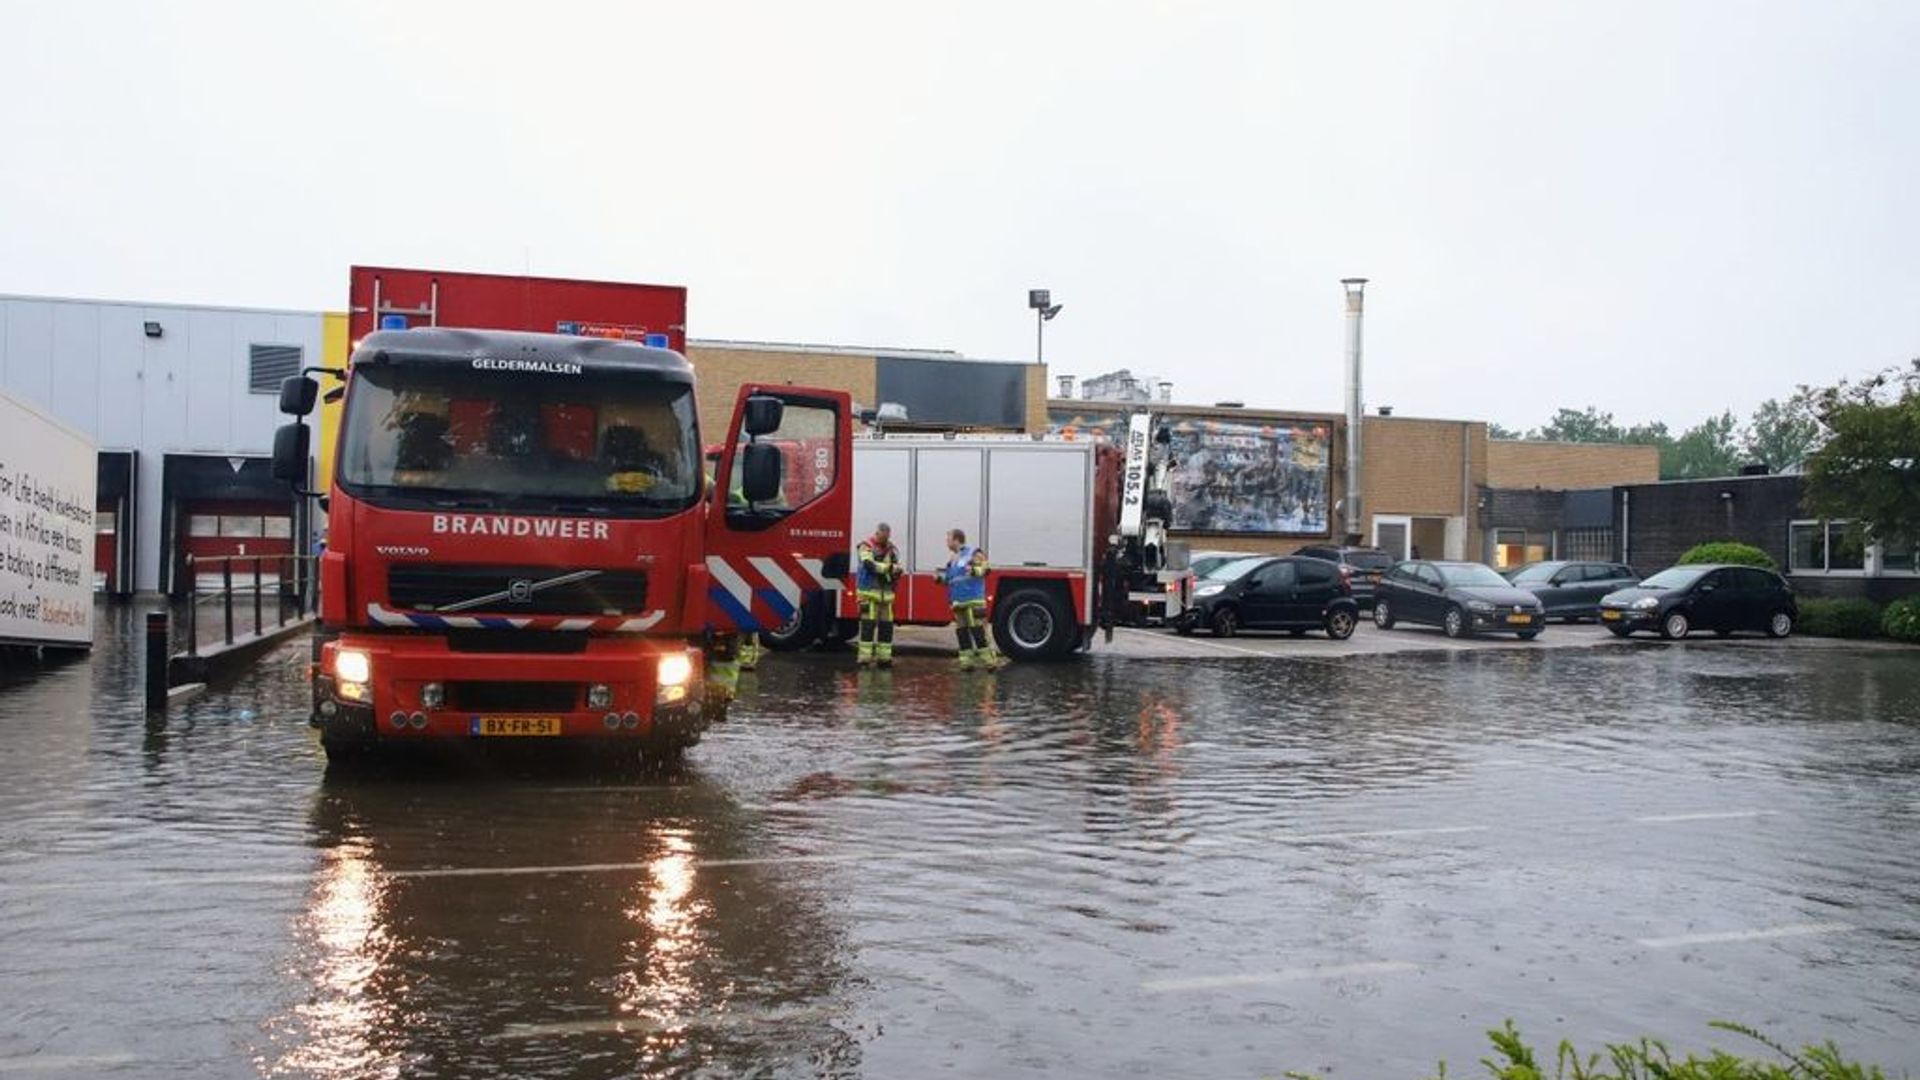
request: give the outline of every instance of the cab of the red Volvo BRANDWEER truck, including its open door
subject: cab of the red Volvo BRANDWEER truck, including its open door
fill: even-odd
[[[630,334],[374,331],[338,375],[313,684],[328,757],[526,736],[674,755],[716,719],[714,648],[847,573],[847,394],[743,386],[708,484],[693,369]],[[319,390],[290,379],[282,411]],[[303,482],[307,438],[280,429],[278,477]],[[783,444],[808,446],[804,490]]]

